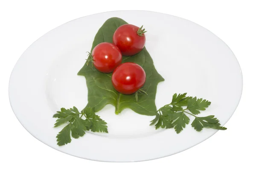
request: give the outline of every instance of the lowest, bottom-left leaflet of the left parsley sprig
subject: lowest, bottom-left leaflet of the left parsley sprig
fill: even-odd
[[[57,138],[57,144],[59,146],[62,146],[64,144],[68,144],[71,142],[70,138],[70,130],[73,128],[72,123],[69,123],[67,126],[65,126],[56,136]]]

